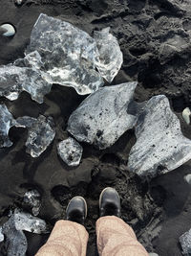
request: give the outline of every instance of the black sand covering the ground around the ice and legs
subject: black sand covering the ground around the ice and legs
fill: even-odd
[[[24,56],[40,12],[69,21],[90,35],[95,29],[110,26],[124,55],[122,69],[113,84],[138,80],[135,96],[138,102],[165,94],[180,118],[182,132],[191,139],[191,127],[180,115],[185,106],[191,106],[191,4],[188,0],[28,0],[21,7],[11,0],[0,0],[0,24],[10,22],[17,31],[13,38],[0,38],[0,64]],[[176,53],[169,48],[162,50],[171,39],[180,49]],[[0,150],[1,223],[7,220],[11,208],[24,207],[22,197],[31,188],[41,193],[39,217],[51,226],[64,217],[70,198],[84,196],[89,204],[87,254],[93,256],[96,255],[98,196],[105,186],[114,186],[122,199],[124,221],[134,227],[138,240],[148,251],[155,251],[159,256],[180,256],[179,237],[191,228],[190,186],[183,179],[190,173],[191,162],[150,182],[141,182],[126,167],[128,153],[136,142],[134,130],[130,130],[105,151],[83,145],[80,166],[68,168],[57,156],[56,143],[67,137],[63,131],[67,120],[84,98],[73,88],[55,84],[42,105],[32,102],[27,93],[14,102],[0,99],[14,117],[52,115],[56,124],[53,144],[36,159],[25,152],[27,130],[11,128],[13,146]],[[30,233],[27,237],[27,255],[34,255],[47,238]],[[6,255],[3,243],[0,255]]]

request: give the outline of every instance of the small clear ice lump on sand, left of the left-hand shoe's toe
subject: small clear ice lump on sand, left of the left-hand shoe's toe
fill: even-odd
[[[32,215],[37,216],[40,212],[40,194],[37,190],[27,191],[24,195],[23,202],[32,208]]]

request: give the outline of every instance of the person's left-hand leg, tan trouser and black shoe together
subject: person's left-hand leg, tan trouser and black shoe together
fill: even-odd
[[[83,226],[87,216],[84,198],[73,198],[67,207],[67,221],[57,221],[48,239],[35,256],[85,256],[88,232]]]

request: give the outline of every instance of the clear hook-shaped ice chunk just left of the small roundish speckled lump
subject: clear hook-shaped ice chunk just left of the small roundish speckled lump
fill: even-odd
[[[16,120],[19,127],[28,128],[28,139],[26,142],[27,152],[32,157],[39,156],[52,143],[55,129],[52,117],[40,115],[37,119],[24,116]]]

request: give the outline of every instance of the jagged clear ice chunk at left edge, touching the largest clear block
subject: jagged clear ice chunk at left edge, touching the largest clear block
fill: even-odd
[[[41,57],[36,51],[12,64],[0,66],[0,96],[11,101],[26,91],[31,94],[32,100],[41,104],[51,88],[52,81],[44,72]]]

